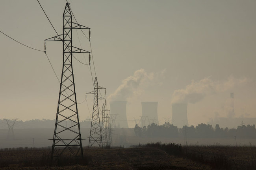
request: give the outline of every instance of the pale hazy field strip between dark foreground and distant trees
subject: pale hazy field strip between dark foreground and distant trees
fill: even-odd
[[[17,148],[17,147],[47,147],[52,146],[54,129],[52,128],[30,128],[14,129],[14,137],[8,138],[8,129],[0,129],[0,149]],[[90,129],[81,128],[82,138],[87,139],[90,135]],[[135,144],[147,143],[180,143],[182,145],[229,145],[236,146],[235,138],[164,138],[164,137],[137,137],[133,128],[114,128],[113,129],[113,146],[124,146],[128,148]],[[256,146],[256,139],[236,138],[237,146]],[[34,142],[34,143],[33,143]],[[88,146],[89,140],[83,140],[83,146]]]

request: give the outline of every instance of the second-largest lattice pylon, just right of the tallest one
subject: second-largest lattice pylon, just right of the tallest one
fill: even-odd
[[[95,77],[94,80],[94,90],[87,94],[94,95],[94,102],[93,102],[93,115],[91,118],[91,131],[90,131],[90,137],[89,137],[89,147],[93,146],[93,144],[97,144],[99,147],[102,147],[102,132],[101,132],[101,126],[100,126],[100,114],[99,114],[99,108],[98,108],[98,100],[104,99],[103,97],[98,96],[98,91],[100,89],[105,89],[106,94],[106,88],[98,86],[98,80],[97,77]],[[85,96],[86,99],[86,96]]]

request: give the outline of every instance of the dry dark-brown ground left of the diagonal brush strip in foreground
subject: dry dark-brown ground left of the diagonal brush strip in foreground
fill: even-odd
[[[0,169],[62,169],[62,170],[210,170],[193,161],[168,155],[158,148],[90,148],[85,149],[86,160],[78,162],[74,157],[61,158],[61,165],[49,165],[47,148],[1,150]]]

